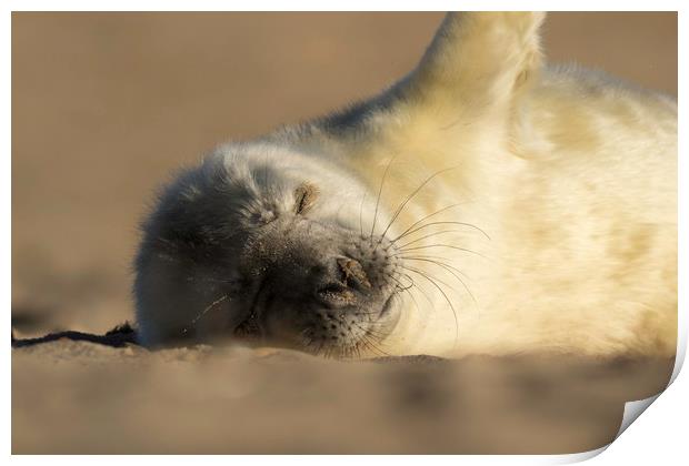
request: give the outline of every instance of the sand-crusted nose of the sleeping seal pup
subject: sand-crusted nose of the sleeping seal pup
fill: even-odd
[[[339,276],[316,291],[317,298],[328,307],[347,307],[358,303],[361,293],[371,288],[371,283],[358,261],[337,257]]]

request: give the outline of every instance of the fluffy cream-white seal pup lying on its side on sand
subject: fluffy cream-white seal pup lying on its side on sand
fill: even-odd
[[[224,144],[143,223],[140,340],[339,357],[671,355],[677,104],[447,16],[365,102]]]

